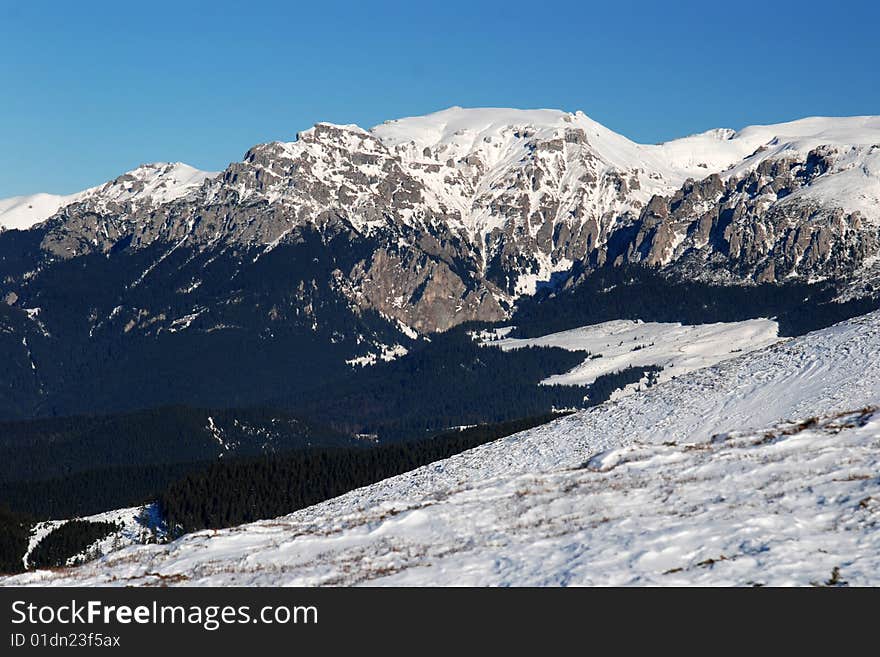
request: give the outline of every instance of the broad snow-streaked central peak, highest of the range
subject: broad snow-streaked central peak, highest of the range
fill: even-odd
[[[434,207],[487,246],[487,262],[532,251],[521,242],[546,242],[555,226],[570,234],[589,224],[577,246],[533,263],[537,278],[570,266],[584,245],[604,240],[616,217],[637,214],[653,194],[684,180],[667,180],[646,163],[642,147],[581,112],[453,107],[371,133],[428,190]],[[529,279],[510,292],[533,289]]]

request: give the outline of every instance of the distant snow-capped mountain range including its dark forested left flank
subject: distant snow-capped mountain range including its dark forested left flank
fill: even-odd
[[[0,416],[259,404],[602,271],[873,297],[880,118],[657,145],[556,110],[319,123],[222,172],[0,201],[0,225]]]

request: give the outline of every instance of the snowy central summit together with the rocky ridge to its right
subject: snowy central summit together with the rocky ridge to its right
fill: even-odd
[[[643,145],[580,112],[452,108],[372,132],[440,190],[484,265],[509,265],[504,280],[516,283],[502,288],[514,295],[584,259],[697,260],[691,275],[710,264],[710,274],[782,280],[840,274],[842,261],[870,264],[877,251],[877,117]]]

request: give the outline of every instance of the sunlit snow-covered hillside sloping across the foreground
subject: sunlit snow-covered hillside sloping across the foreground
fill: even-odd
[[[878,584],[880,313],[284,518],[7,584]]]

